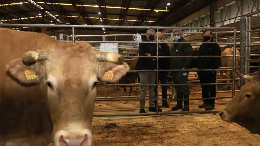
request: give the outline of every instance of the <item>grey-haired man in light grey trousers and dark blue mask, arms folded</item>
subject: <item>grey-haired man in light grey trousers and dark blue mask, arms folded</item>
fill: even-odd
[[[154,40],[154,29],[149,29],[146,31],[146,39],[144,42],[152,42]],[[139,43],[139,55],[140,56],[156,56],[156,44],[154,43]],[[144,58],[139,57],[136,63],[136,70],[155,70],[157,61],[155,58]],[[139,72],[140,84],[154,84],[156,72]],[[154,86],[149,87],[149,99],[154,99]],[[140,87],[140,99],[145,99],[146,97],[146,86]],[[154,101],[149,101],[149,110],[156,112],[156,107]],[[161,109],[158,109],[158,112],[161,112]],[[140,100],[140,114],[146,113],[145,111],[145,100]]]

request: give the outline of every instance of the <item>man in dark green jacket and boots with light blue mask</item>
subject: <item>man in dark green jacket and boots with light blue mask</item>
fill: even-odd
[[[181,30],[173,31],[175,42],[187,42],[181,34]],[[176,43],[172,44],[171,56],[191,56],[193,49],[191,44],[187,43]],[[189,69],[192,64],[191,57],[182,58],[170,58],[170,69]],[[173,71],[171,72],[174,84],[187,84],[188,83],[187,71]],[[176,85],[175,89],[177,91],[177,99],[189,99],[190,88],[188,85]],[[172,110],[189,111],[189,100],[184,100],[184,108],[182,105],[182,100],[177,100],[177,105],[172,107]]]

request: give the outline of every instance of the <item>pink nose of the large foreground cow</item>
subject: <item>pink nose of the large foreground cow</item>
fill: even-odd
[[[59,138],[59,146],[88,146],[88,136],[73,136],[73,137],[63,137]]]

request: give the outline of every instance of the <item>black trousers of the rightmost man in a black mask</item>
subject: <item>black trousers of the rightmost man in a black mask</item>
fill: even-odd
[[[200,83],[216,83],[216,72],[200,72]],[[202,98],[216,97],[216,85],[201,85]],[[215,99],[203,100],[205,104],[215,104]]]

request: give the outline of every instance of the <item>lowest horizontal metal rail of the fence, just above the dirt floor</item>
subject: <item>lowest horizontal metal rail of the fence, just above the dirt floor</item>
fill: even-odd
[[[176,114],[203,114],[203,113],[218,113],[218,110],[211,111],[174,111],[174,112],[158,112],[146,114],[94,114],[94,117],[125,117],[125,116],[153,116],[153,115],[176,115]]]

